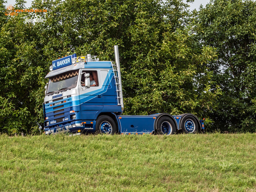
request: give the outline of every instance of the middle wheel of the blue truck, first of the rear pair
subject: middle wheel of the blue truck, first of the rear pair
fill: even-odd
[[[175,134],[176,125],[174,121],[169,117],[161,117],[156,124],[156,133],[157,134]]]

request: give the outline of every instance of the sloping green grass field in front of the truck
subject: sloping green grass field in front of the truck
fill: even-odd
[[[256,191],[256,134],[0,136],[0,191]]]

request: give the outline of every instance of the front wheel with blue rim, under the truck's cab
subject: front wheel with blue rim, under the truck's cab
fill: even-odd
[[[114,134],[116,133],[116,124],[114,120],[107,115],[99,116],[96,120],[96,133]]]

